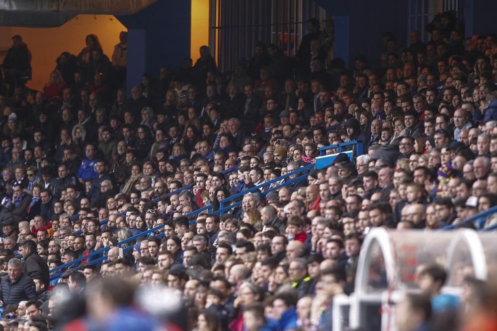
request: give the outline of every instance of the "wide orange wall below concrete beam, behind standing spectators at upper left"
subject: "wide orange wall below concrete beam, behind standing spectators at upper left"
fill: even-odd
[[[103,52],[112,56],[114,45],[119,43],[119,33],[126,27],[112,15],[78,15],[57,28],[2,28],[10,29],[11,35],[19,34],[33,54],[33,79],[28,87],[43,89],[55,60],[64,51],[78,55],[85,46],[85,37],[90,33],[98,36]]]

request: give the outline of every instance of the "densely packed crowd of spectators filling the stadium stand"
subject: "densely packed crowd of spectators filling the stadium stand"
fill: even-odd
[[[14,36],[0,96],[1,329],[152,330],[161,319],[134,295],[167,286],[181,297],[170,330],[331,330],[371,227],[496,224],[458,225],[497,201],[496,34],[464,38],[450,12],[427,28],[429,42],[413,31],[405,48],[373,36],[381,66],[346,68],[333,22],[310,19],[295,57],[259,42],[220,72],[203,46],[195,64],[144,73],[130,99],[126,32],[110,58],[96,35],[62,53],[43,91],[24,85],[31,53]],[[354,140],[353,162],[279,179]],[[470,273],[456,298],[440,293],[443,267],[420,266],[399,330],[495,330],[497,292]]]

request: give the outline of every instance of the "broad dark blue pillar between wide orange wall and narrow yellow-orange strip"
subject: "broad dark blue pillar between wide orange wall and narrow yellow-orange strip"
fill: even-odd
[[[158,0],[117,19],[128,28],[128,94],[144,72],[158,76],[161,66],[178,70],[190,56],[191,1]]]

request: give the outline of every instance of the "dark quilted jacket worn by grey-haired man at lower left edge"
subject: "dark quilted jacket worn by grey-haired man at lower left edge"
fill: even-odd
[[[3,276],[0,283],[0,300],[3,301],[3,307],[7,305],[17,305],[20,301],[36,299],[36,288],[33,279],[21,274],[21,276],[12,283],[10,278]]]

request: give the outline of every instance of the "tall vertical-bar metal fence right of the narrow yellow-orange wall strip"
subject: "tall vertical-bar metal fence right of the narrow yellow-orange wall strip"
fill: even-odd
[[[306,21],[323,22],[326,11],[314,0],[216,0],[211,49],[221,71],[230,71],[253,55],[258,41],[296,54]]]

